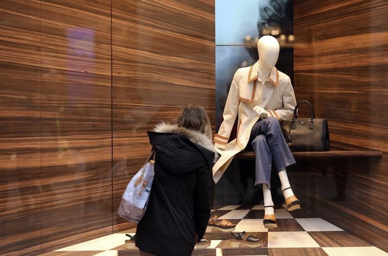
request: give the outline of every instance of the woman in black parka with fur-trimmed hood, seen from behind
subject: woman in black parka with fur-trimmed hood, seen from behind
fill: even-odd
[[[136,246],[158,256],[190,256],[210,218],[215,150],[209,117],[187,106],[173,124],[148,132],[155,148],[155,177]]]

